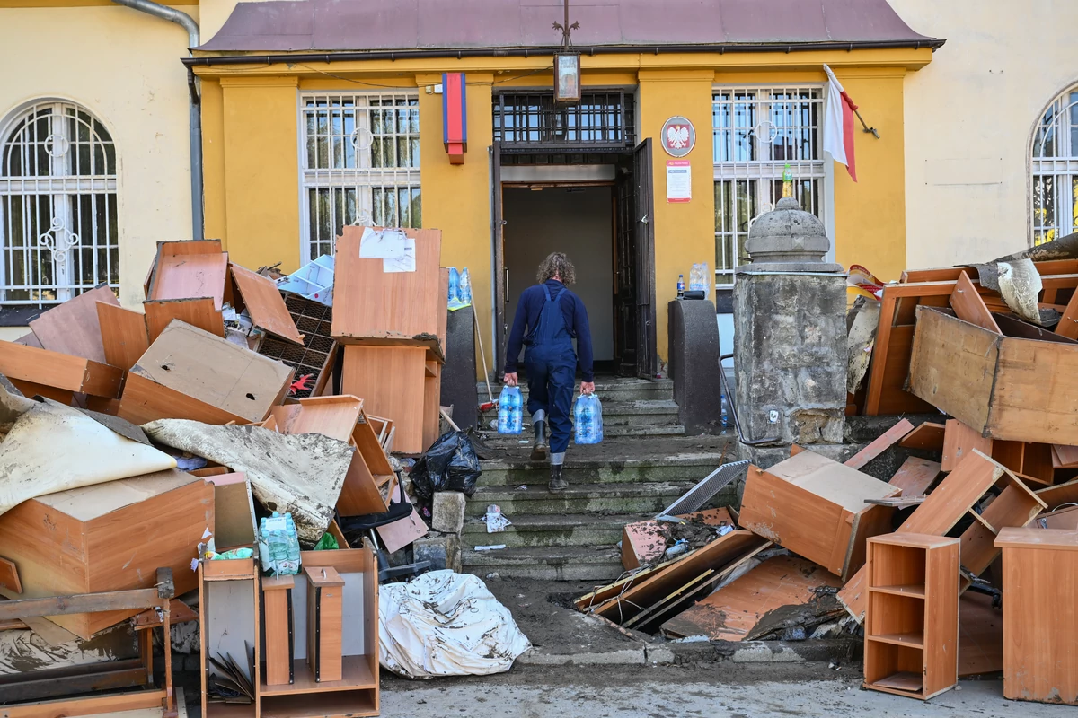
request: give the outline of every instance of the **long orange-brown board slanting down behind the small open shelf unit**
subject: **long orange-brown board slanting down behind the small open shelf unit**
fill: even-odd
[[[942,536],[1006,473],[1000,464],[975,449],[913,509],[896,533]],[[867,572],[862,567],[839,591],[839,601],[857,620],[865,616],[867,589]]]

